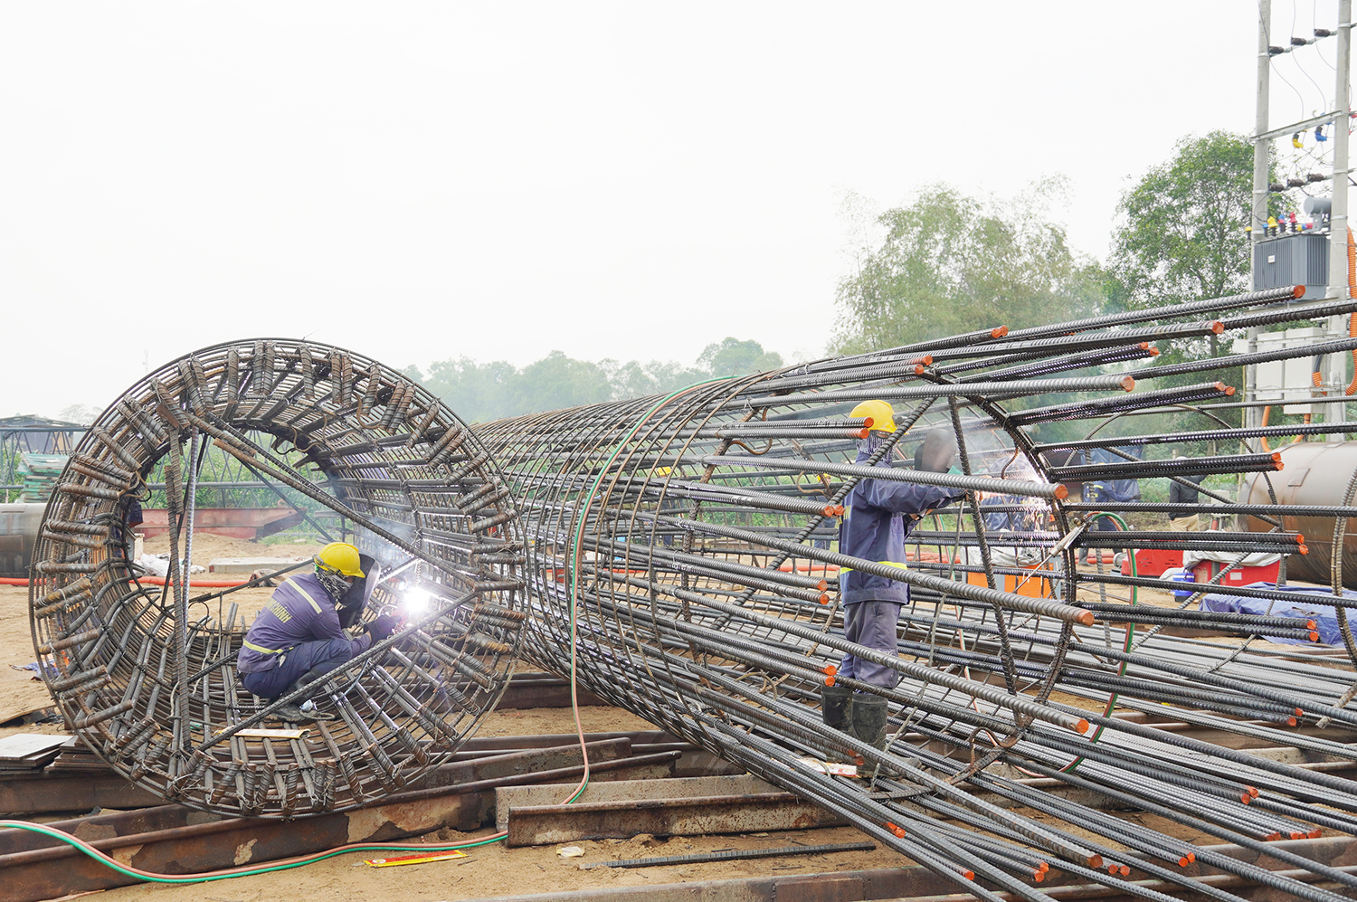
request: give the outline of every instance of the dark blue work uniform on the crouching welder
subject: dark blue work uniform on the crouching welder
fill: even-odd
[[[303,574],[273,590],[246,633],[236,673],[254,694],[277,699],[308,670],[334,670],[369,646],[369,633],[345,635],[330,593],[315,574]]]

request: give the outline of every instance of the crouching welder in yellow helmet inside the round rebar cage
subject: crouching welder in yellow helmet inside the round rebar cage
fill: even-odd
[[[315,572],[292,576],[273,590],[246,633],[236,673],[261,699],[273,701],[330,673],[389,636],[399,623],[395,614],[381,614],[366,625],[365,635],[349,639],[335,605],[365,576],[358,549],[334,541],[313,560]],[[278,708],[277,716],[290,722],[332,718],[294,704]]]

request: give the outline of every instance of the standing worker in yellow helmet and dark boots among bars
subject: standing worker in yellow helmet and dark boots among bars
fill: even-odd
[[[858,404],[849,416],[873,419],[868,437],[858,444],[856,463],[866,464],[896,431],[894,411],[886,401],[874,400]],[[877,467],[890,467],[889,457]],[[959,488],[862,479],[844,502],[839,553],[904,567],[905,537],[919,518],[965,494]],[[909,583],[848,570],[839,574],[839,593],[844,606],[844,638],[896,656],[896,624],[901,605],[909,601]],[[885,665],[844,655],[839,677],[894,689],[900,674]],[[870,692],[855,693],[843,682],[825,686],[821,693],[821,716],[826,726],[877,749],[886,747],[886,699]]]

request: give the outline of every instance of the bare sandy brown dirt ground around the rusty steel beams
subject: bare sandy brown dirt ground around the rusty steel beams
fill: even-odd
[[[261,545],[243,540],[198,534],[194,538],[194,563],[206,566],[212,557],[292,557],[304,559],[313,553],[312,545]],[[166,538],[147,543],[149,553],[168,549]],[[204,590],[206,591],[206,590]],[[232,598],[243,610],[258,609],[269,597],[267,589],[243,590]],[[1163,595],[1163,597],[1160,597]],[[1141,604],[1171,605],[1167,593],[1140,595]],[[0,586],[0,656],[4,663],[22,666],[34,661],[33,639],[28,628],[27,589]],[[217,613],[217,612],[213,612]],[[1067,699],[1061,699],[1067,700]],[[1094,707],[1087,700],[1069,697],[1068,701]],[[42,682],[31,671],[0,667],[0,722],[24,712],[49,707],[50,699]],[[586,707],[581,709],[586,732],[628,731],[653,728],[645,720],[616,708]],[[540,708],[502,711],[491,713],[482,726],[480,735],[539,735],[574,731],[569,709]],[[0,728],[0,737],[14,732],[61,734],[60,724],[30,724]],[[1027,812],[1037,819],[1044,815]],[[1128,815],[1148,826],[1182,834],[1177,825],[1152,823],[1151,815]],[[427,842],[455,842],[474,840],[491,833],[483,829],[474,834],[444,830],[425,837]],[[672,837],[650,836],[631,840],[581,841],[579,857],[560,857],[562,846],[505,848],[490,844],[470,849],[465,859],[429,864],[373,868],[362,864],[372,853],[337,856],[318,864],[259,876],[237,878],[220,883],[193,886],[138,884],[98,894],[115,902],[121,899],[164,899],[174,902],[255,902],[261,899],[307,898],[313,902],[338,902],[353,898],[379,898],[389,902],[436,902],[440,899],[475,899],[484,897],[522,897],[535,893],[590,890],[624,886],[658,886],[693,880],[716,880],[746,876],[797,875],[863,868],[889,868],[908,864],[896,852],[878,848],[874,852],[848,852],[818,856],[790,856],[749,861],[718,861],[639,869],[594,868],[581,865],[617,859],[692,855],[725,849],[763,849],[792,845],[821,845],[854,842],[863,837],[852,827],[792,830],[744,836]],[[1198,837],[1183,836],[1187,840]]]

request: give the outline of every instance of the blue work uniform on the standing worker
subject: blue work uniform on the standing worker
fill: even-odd
[[[881,444],[871,437],[858,444],[858,464]],[[877,464],[889,467],[889,461]],[[839,526],[839,553],[873,562],[905,563],[905,538],[915,528],[908,514],[944,507],[965,496],[965,490],[863,479],[845,499],[847,511]],[[900,606],[909,601],[909,583],[860,570],[839,574],[844,605],[844,638],[859,646],[894,655]],[[839,674],[874,686],[894,688],[898,673],[856,655],[844,655]]]

